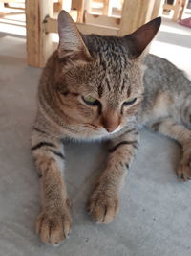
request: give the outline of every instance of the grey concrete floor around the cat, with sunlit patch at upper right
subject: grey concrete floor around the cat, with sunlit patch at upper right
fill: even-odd
[[[190,35],[189,29],[165,22],[151,52],[191,75]],[[30,151],[41,70],[27,66],[25,38],[1,33],[0,42],[0,256],[190,256],[191,183],[179,182],[175,175],[180,147],[148,130],[141,132],[119,215],[104,226],[96,225],[85,211],[104,165],[104,146],[67,146],[73,232],[59,247],[41,244],[34,233],[39,180]]]

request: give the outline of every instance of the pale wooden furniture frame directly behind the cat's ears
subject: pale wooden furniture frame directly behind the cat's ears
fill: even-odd
[[[160,0],[124,0],[121,18],[87,13],[85,20],[84,0],[72,0],[71,6],[78,12],[77,27],[81,33],[122,36],[132,33],[142,24],[157,17],[161,3]],[[58,9],[60,5],[59,1]],[[55,6],[53,0],[26,0],[29,65],[43,67],[53,52],[52,33],[57,32],[57,21],[53,18]]]

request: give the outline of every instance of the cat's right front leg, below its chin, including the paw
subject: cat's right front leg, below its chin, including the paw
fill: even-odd
[[[137,129],[111,140],[106,169],[88,202],[88,211],[97,223],[109,223],[116,217],[122,181],[138,151],[138,141]]]

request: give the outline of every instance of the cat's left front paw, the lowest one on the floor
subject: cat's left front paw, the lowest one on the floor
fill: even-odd
[[[62,209],[42,211],[36,221],[36,233],[45,244],[58,245],[71,232],[72,218],[66,205]]]

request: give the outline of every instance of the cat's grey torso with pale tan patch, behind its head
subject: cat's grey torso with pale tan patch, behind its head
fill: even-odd
[[[164,58],[148,55],[144,59],[144,100],[139,122],[147,124],[171,116],[174,121],[191,128],[191,81],[175,65]]]

